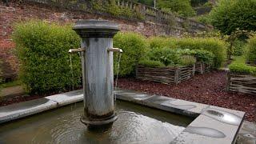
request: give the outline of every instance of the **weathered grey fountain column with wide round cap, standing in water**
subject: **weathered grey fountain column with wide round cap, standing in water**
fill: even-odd
[[[113,123],[114,73],[113,37],[118,25],[103,20],[82,20],[73,28],[82,38],[82,83],[84,115],[81,121],[88,126]]]

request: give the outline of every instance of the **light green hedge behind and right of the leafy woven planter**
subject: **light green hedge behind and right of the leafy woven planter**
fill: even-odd
[[[181,38],[177,40],[180,49],[207,50],[214,54],[213,68],[222,66],[226,58],[226,43],[218,38]]]

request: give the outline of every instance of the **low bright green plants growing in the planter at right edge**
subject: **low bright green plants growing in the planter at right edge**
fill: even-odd
[[[230,71],[234,73],[252,74],[256,76],[256,67],[246,65],[246,58],[243,56],[235,57],[234,62],[229,66]]]

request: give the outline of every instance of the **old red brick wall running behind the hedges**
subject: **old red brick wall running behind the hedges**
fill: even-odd
[[[134,31],[145,35],[175,35],[179,36],[184,29],[174,28],[153,22],[136,22],[111,16],[90,14],[84,11],[63,10],[32,2],[17,2],[14,0],[6,6],[0,3],[0,59],[3,75],[13,75],[18,70],[18,60],[14,56],[14,42],[11,40],[12,27],[15,22],[27,21],[31,18],[43,19],[49,22],[76,22],[78,19],[108,19],[118,22],[122,31]]]

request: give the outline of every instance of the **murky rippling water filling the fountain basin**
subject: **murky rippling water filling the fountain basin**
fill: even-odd
[[[169,143],[193,121],[178,114],[117,101],[109,130],[87,130],[79,102],[0,126],[0,143]]]

